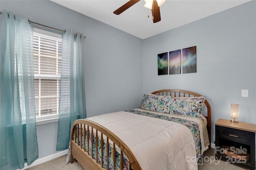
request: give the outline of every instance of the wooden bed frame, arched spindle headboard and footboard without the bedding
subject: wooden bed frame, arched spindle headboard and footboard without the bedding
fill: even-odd
[[[168,95],[168,96],[173,96],[173,97],[199,97],[201,96],[200,94],[186,91],[186,90],[177,90],[177,89],[166,89],[166,90],[158,90],[155,92],[152,92],[151,94],[156,94],[156,95]],[[210,104],[208,103],[207,100],[204,101],[204,104],[207,107],[207,130],[208,130],[208,137],[209,141],[211,142],[211,107]],[[120,170],[123,170],[123,154],[126,155],[128,158],[130,164],[128,166],[129,170],[131,169],[131,166],[133,167],[134,170],[141,170],[140,165],[138,161],[136,160],[134,154],[132,151],[127,147],[127,145],[119,139],[114,133],[103,127],[102,125],[95,123],[90,120],[86,119],[78,119],[74,121],[71,127],[70,131],[70,163],[73,163],[73,158],[75,158],[84,169],[86,170],[105,170],[103,167],[103,164],[99,163],[98,160],[94,159],[93,156],[89,155],[89,149],[86,152],[85,147],[84,149],[82,148],[82,137],[84,140],[87,140],[87,148],[89,148],[89,143],[93,143],[93,138],[92,140],[89,141],[89,135],[87,135],[87,138],[85,139],[85,132],[83,133],[82,131],[79,131],[79,127],[83,127],[83,129],[89,129],[90,133],[92,133],[91,136],[93,136],[93,133],[96,133],[96,158],[98,157],[98,134],[101,133],[101,146],[103,144],[103,135],[106,136],[106,154],[109,154],[109,147],[110,147],[110,142],[109,140],[112,141],[113,146],[117,146],[121,152],[120,152]],[[210,148],[210,145],[209,145]],[[101,153],[103,152],[103,147],[100,148]],[[93,150],[93,147],[92,147]],[[91,152],[93,152],[91,150]],[[115,147],[113,147],[112,154],[116,152]],[[115,155],[113,157],[113,164],[115,164]],[[101,158],[103,159],[103,156],[101,155]],[[101,160],[103,162],[103,160]],[[107,159],[107,169],[108,169],[108,159]]]

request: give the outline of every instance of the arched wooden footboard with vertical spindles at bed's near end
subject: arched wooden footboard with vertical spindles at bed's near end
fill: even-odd
[[[80,129],[83,129],[83,131],[79,131]],[[91,133],[91,140],[89,140],[89,135],[86,137],[86,130],[90,131]],[[94,135],[94,133],[96,133]],[[88,133],[89,134],[89,133]],[[106,137],[104,137],[104,135]],[[96,146],[96,158],[98,158],[98,140],[100,136],[100,150],[101,150],[101,164],[98,162],[98,159],[93,158],[93,154],[89,155],[89,143],[91,143],[91,146],[93,146],[93,136],[96,136],[95,140],[95,146]],[[82,137],[87,141],[87,148],[88,151],[86,152],[85,146],[82,148]],[[86,139],[85,139],[86,138]],[[78,119],[74,121],[71,127],[71,133],[70,133],[70,163],[73,163],[73,158],[75,158],[84,169],[86,170],[104,170],[105,168],[103,167],[103,139],[106,138],[106,155],[109,154],[109,147],[110,147],[110,141],[111,144],[113,145],[113,151],[112,151],[112,161],[113,164],[115,165],[116,161],[116,146],[121,150],[120,151],[120,170],[124,169],[124,159],[123,155],[125,154],[126,157],[128,158],[130,164],[129,164],[129,169],[131,169],[131,166],[134,170],[141,170],[140,165],[138,164],[138,161],[136,160],[134,154],[132,151],[126,146],[126,144],[119,139],[114,133],[103,127],[102,125],[95,123],[90,120],[86,119]],[[93,152],[93,147],[90,150]],[[108,161],[107,159],[107,170],[108,170]],[[115,167],[115,166],[114,166]],[[113,170],[115,169],[113,167]]]

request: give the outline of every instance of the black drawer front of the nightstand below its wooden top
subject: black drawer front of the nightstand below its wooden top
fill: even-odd
[[[219,137],[223,139],[250,145],[250,132],[228,127],[220,127],[219,135]]]

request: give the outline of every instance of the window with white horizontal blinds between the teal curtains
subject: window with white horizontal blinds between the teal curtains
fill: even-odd
[[[34,28],[36,119],[58,117],[62,59],[61,35]]]

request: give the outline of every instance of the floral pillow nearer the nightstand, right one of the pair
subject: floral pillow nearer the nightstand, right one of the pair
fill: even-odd
[[[198,117],[204,120],[202,108],[206,97],[171,98],[170,113]]]

